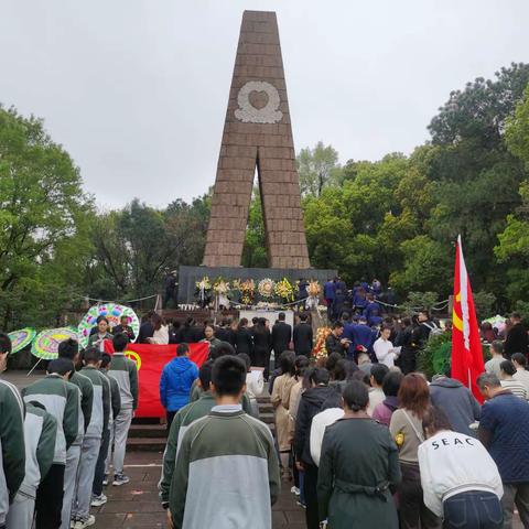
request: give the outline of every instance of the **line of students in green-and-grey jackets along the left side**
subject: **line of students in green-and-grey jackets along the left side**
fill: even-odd
[[[123,462],[138,371],[123,355],[127,334],[112,336],[99,322],[97,335],[112,341],[111,356],[66,339],[46,377],[21,393],[0,378],[1,529],[84,529],[96,521],[90,506],[107,501],[104,486],[129,482]],[[10,352],[0,333],[0,375]]]

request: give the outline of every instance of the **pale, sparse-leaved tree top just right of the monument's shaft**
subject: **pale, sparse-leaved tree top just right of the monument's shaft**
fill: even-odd
[[[320,196],[324,187],[336,183],[338,153],[332,145],[319,141],[314,149],[302,149],[296,164],[302,195]]]

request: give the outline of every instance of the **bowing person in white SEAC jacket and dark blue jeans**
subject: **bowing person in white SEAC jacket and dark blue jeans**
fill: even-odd
[[[500,529],[504,495],[498,467],[485,446],[454,432],[447,417],[430,408],[422,419],[425,441],[419,446],[424,505],[444,518],[443,528]]]

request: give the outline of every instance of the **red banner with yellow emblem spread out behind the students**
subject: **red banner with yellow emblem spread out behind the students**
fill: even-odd
[[[108,349],[107,343],[105,345]],[[108,345],[111,348],[111,342]],[[160,402],[160,377],[163,366],[176,356],[176,345],[129,344],[125,354],[138,366],[140,396],[134,417],[165,417]],[[198,367],[208,356],[209,344],[190,344],[190,359]]]

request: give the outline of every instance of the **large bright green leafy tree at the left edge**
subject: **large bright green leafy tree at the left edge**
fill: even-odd
[[[0,323],[40,325],[78,294],[91,198],[41,119],[0,107]]]

